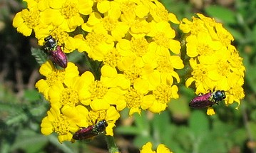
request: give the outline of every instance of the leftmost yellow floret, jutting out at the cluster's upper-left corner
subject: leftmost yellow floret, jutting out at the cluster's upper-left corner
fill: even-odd
[[[24,36],[30,36],[33,28],[40,24],[40,13],[36,9],[24,9],[14,16],[13,26]]]

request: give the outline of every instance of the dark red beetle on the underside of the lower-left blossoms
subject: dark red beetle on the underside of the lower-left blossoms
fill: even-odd
[[[108,122],[106,122],[106,120],[101,120],[96,125],[82,127],[81,130],[78,130],[73,134],[73,139],[81,140],[96,137],[101,132],[104,132],[106,127],[108,127]]]

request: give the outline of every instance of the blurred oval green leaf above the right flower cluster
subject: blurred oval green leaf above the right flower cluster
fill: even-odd
[[[222,6],[208,6],[205,9],[206,13],[209,14],[209,16],[213,16],[214,18],[217,18],[221,20],[223,23],[227,24],[235,24],[235,12],[230,11],[230,9],[227,9]]]

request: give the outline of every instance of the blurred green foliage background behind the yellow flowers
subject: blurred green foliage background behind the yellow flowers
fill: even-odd
[[[195,94],[179,87],[180,98],[172,100],[160,115],[143,112],[128,117],[128,110],[124,110],[114,132],[121,152],[139,152],[148,141],[154,147],[163,143],[175,153],[256,152],[256,1],[161,2],[179,20],[202,13],[222,22],[232,33],[233,45],[246,68],[245,99],[239,110],[235,110],[236,103],[226,107],[222,102],[214,106],[216,115],[208,116],[206,109],[190,109],[188,102]],[[0,152],[108,152],[102,135],[91,142],[59,144],[56,134],[41,134],[41,120],[49,105],[34,89],[41,76],[30,51],[39,46],[34,36],[22,36],[12,27],[14,15],[24,7],[18,0],[0,1]],[[81,70],[86,69],[83,58],[75,60],[80,61]]]

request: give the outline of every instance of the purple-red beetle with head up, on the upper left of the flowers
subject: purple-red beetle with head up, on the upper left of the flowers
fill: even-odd
[[[56,40],[52,38],[52,36],[44,38],[44,41],[44,50],[47,51],[53,63],[61,66],[61,68],[66,68],[68,60],[66,54],[61,50],[61,46],[58,46]]]

